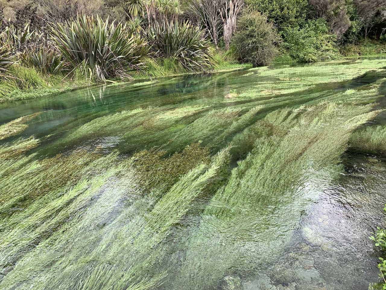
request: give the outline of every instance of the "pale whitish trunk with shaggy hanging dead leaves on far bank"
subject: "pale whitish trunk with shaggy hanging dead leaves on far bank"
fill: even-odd
[[[236,30],[237,15],[239,15],[243,5],[244,0],[229,0],[229,4],[226,0],[225,7],[222,9],[221,19],[224,24],[224,43],[227,50],[230,47],[233,32]]]

